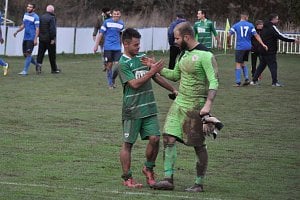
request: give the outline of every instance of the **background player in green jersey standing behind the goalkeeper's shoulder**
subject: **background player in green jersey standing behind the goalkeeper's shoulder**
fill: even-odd
[[[222,44],[220,42],[220,38],[215,29],[213,22],[206,18],[206,11],[199,10],[197,13],[197,18],[199,21],[194,24],[194,31],[196,40],[206,46],[207,48],[212,48],[212,34],[215,36],[217,40],[218,48],[222,48]]]

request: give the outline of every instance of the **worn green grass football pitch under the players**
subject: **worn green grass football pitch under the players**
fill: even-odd
[[[218,54],[218,52],[216,52]],[[167,54],[159,54],[165,56]],[[282,88],[271,87],[266,70],[259,86],[232,87],[233,54],[218,55],[220,89],[213,114],[225,124],[207,139],[205,192],[184,188],[194,180],[194,153],[178,145],[175,190],[121,185],[120,84],[106,85],[99,57],[58,57],[53,75],[46,58],[43,74],[17,75],[23,58],[6,57],[0,76],[0,199],[300,199],[300,56],[279,55]],[[119,83],[119,81],[118,81]],[[155,85],[155,84],[154,84]],[[161,126],[171,100],[155,85]],[[133,149],[134,177],[141,173],[144,141]],[[163,177],[162,148],[156,173]]]

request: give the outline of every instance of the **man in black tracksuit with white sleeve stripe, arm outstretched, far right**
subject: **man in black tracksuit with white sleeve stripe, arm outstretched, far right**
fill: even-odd
[[[281,87],[282,85],[277,80],[277,60],[276,60],[276,54],[277,54],[277,43],[278,39],[283,40],[285,42],[295,42],[299,43],[299,40],[295,38],[290,38],[282,33],[279,32],[279,30],[276,27],[276,24],[278,24],[279,18],[277,14],[271,14],[269,18],[269,22],[264,24],[264,27],[261,32],[261,38],[263,42],[268,46],[268,51],[261,48],[261,59],[259,66],[257,67],[254,77],[251,81],[251,85],[256,85],[258,81],[258,77],[261,75],[261,73],[264,71],[266,66],[268,65],[271,76],[272,76],[272,86],[275,87]]]

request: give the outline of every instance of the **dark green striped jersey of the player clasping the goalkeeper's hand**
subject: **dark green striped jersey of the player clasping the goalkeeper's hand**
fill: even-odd
[[[144,66],[140,59],[145,56],[139,53],[133,58],[122,55],[119,60],[119,76],[123,85],[122,119],[139,119],[157,114],[151,80],[137,89],[128,85],[128,81],[143,77],[149,68]]]

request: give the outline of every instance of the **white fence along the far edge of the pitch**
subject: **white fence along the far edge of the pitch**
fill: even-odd
[[[5,30],[2,27],[3,35],[5,36],[4,45],[0,46],[0,54],[7,56],[22,56],[22,40],[23,32],[20,32],[16,38],[13,33],[18,27],[7,27]],[[139,28],[138,31],[142,35],[141,49],[142,52],[147,51],[167,51],[169,50],[167,28]],[[57,53],[62,54],[92,54],[94,41],[92,39],[93,28],[72,28],[58,27],[57,28]],[[224,30],[217,31],[220,35],[223,47],[225,47],[225,32]],[[291,37],[300,39],[300,34],[286,34]],[[216,40],[213,39],[214,47]],[[235,46],[235,39],[232,37],[231,45]],[[278,51],[280,53],[300,54],[300,45],[279,41]],[[34,48],[33,54],[37,54],[37,47]]]

